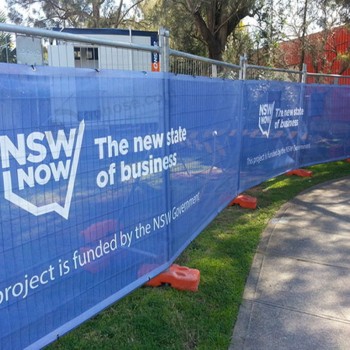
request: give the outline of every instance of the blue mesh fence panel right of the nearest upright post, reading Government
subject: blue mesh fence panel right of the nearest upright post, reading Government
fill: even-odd
[[[170,130],[186,130],[171,172],[172,258],[237,195],[240,90],[239,81],[169,79]]]

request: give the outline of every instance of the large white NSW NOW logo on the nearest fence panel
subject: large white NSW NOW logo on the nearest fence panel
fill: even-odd
[[[0,136],[5,199],[35,216],[68,219],[84,130],[82,120],[69,131]]]

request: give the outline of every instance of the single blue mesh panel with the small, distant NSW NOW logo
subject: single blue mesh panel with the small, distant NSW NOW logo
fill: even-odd
[[[243,84],[240,192],[298,166],[298,130],[304,117],[301,84]]]

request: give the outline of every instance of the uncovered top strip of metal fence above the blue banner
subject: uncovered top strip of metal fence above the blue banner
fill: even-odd
[[[97,70],[162,71],[240,80],[350,84],[350,76],[309,73],[306,65],[301,71],[257,66],[248,64],[244,56],[236,65],[173,50],[169,45],[169,31],[165,29],[160,29],[158,42],[154,45],[132,42],[131,36],[130,40],[120,37],[123,40],[116,41],[104,36],[92,37],[6,23],[0,23],[0,32],[15,34],[17,63]]]

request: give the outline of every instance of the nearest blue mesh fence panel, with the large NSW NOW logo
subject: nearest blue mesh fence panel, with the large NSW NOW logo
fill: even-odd
[[[162,74],[0,71],[0,348],[40,348],[166,267],[153,218],[184,140]]]

